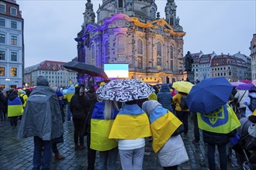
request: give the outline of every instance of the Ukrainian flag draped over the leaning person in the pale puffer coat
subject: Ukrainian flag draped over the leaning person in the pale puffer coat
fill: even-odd
[[[153,134],[153,149],[157,153],[182,124],[171,111],[158,107],[150,114],[150,128]]]

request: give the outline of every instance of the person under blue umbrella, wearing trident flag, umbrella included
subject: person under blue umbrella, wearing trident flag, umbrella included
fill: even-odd
[[[227,169],[226,145],[240,127],[234,110],[227,104],[232,85],[224,77],[202,80],[192,87],[186,103],[191,111],[198,112],[198,124],[208,144],[207,158],[210,170],[216,169],[215,148],[218,147],[220,169]]]

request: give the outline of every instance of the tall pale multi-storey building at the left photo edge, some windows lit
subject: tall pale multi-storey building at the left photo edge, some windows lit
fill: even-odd
[[[14,0],[0,2],[0,87],[22,87],[23,19]]]

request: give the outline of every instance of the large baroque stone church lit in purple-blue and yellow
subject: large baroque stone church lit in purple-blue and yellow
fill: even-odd
[[[174,0],[167,0],[165,19],[155,0],[102,0],[97,21],[91,0],[85,4],[78,37],[78,61],[99,68],[128,63],[129,78],[150,84],[183,78],[183,32]]]

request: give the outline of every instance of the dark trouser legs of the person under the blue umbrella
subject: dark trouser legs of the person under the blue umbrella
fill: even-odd
[[[215,146],[212,144],[208,144],[208,164],[209,164],[209,170],[215,170],[216,169],[216,163],[215,163]],[[219,157],[220,157],[220,169],[221,170],[227,170],[227,151],[226,151],[226,145],[217,145],[218,151],[219,151]]]

